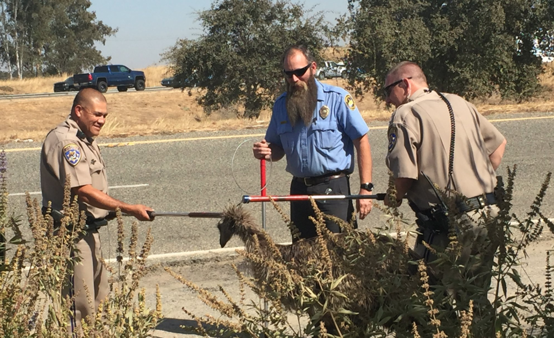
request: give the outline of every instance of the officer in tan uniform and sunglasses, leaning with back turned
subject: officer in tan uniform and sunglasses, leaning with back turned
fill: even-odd
[[[435,247],[448,245],[448,227],[440,219],[442,205],[432,183],[465,196],[456,197],[457,210],[451,211],[460,213],[473,227],[469,237],[460,239],[461,264],[467,263],[470,255],[481,255],[483,265],[478,269],[490,272],[496,247],[489,245],[479,217],[483,212],[497,215],[495,170],[504,155],[506,139],[473,104],[454,94],[429,90],[423,71],[415,63],[394,66],[387,74],[384,92],[386,102],[397,108],[389,123],[386,158],[397,201],[387,195],[386,204],[399,205],[400,197],[406,195],[423,234],[415,250],[431,262],[435,257],[422,240]],[[476,243],[480,252],[472,252],[472,247],[479,247],[473,245]],[[488,288],[490,278],[482,283]]]

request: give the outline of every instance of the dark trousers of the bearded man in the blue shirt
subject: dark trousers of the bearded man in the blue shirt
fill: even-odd
[[[293,195],[349,195],[350,178],[348,176],[343,176],[316,185],[306,186],[302,178],[294,177],[293,181],[290,182],[290,193]],[[351,199],[322,200],[316,201],[316,204],[320,211],[325,214],[338,217],[346,222],[352,220],[354,207]],[[317,236],[315,224],[310,221],[308,218],[309,216],[315,218],[314,208],[312,208],[310,201],[290,202],[290,218],[300,232],[300,238],[297,238],[294,235],[294,231],[291,231],[293,234],[293,242],[302,238]],[[341,232],[341,228],[338,224],[329,219],[325,220],[325,225],[327,229],[333,233]],[[357,228],[356,220],[354,228]]]

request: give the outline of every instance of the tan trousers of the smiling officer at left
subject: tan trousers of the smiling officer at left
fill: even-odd
[[[98,230],[87,231],[81,235],[76,243],[81,261],[74,267],[73,276],[70,276],[69,287],[63,290],[62,295],[75,296],[71,306],[71,317],[68,329],[70,332],[81,332],[81,320],[91,316],[88,321],[94,321],[101,301],[109,293],[109,284],[106,269],[98,258],[102,257]],[[85,288],[86,285],[86,288]],[[87,289],[89,295],[87,295]]]

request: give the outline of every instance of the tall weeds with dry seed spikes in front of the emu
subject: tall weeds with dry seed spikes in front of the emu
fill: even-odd
[[[430,264],[409,248],[409,234],[402,232],[409,222],[397,208],[378,206],[385,220],[382,228],[358,231],[342,222],[344,233],[336,235],[326,230],[324,221],[340,220],[312,203],[318,237],[296,247],[301,251],[296,257],[305,260],[286,258],[283,247],[261,229],[243,238],[248,245],[239,253],[253,273],[234,267],[239,299],[223,287],[212,293],[166,270],[221,314],[202,316],[183,309],[197,321],[188,329],[204,336],[554,337],[551,253],[545,253],[547,282],[542,288],[524,283],[519,273],[526,248],[537,242],[545,226],[554,233],[554,224],[541,212],[551,173],[523,219],[511,212],[515,176],[516,167],[509,168],[506,185],[498,187],[499,216],[480,218],[492,245],[481,247],[483,242],[471,240],[467,219],[450,212],[447,247],[426,244],[437,256]],[[395,193],[392,183],[389,192]],[[441,193],[455,210],[454,198]],[[467,245],[480,254],[491,250],[494,267],[479,269],[481,255],[473,253],[461,264]],[[479,279],[490,279],[490,287],[477,283]],[[247,289],[263,301],[249,299]]]

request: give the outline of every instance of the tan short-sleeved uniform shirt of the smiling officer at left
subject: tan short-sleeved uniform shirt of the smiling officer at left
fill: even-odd
[[[64,185],[69,175],[71,187],[92,185],[107,193],[106,167],[96,141],[87,138],[71,117],[51,130],[40,154],[40,188],[42,204],[62,211]],[[73,198],[73,194],[71,194]],[[103,218],[108,211],[79,201],[79,209],[87,216]]]

